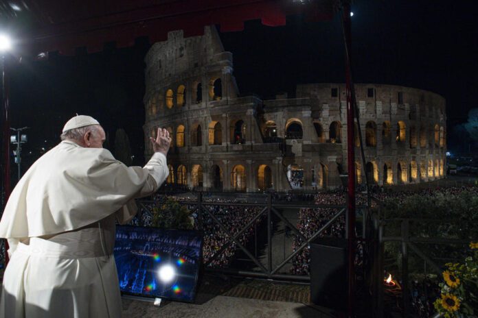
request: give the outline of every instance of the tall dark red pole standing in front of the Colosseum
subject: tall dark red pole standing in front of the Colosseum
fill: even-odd
[[[354,149],[354,102],[352,100],[351,52],[352,32],[350,25],[350,1],[342,2],[343,37],[345,41],[345,90],[347,94],[347,166],[348,166],[348,317],[354,315],[355,298],[355,149]]]

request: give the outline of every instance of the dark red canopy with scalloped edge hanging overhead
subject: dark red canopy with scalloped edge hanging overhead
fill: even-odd
[[[135,38],[165,40],[168,32],[203,34],[205,25],[238,31],[244,21],[286,23],[286,15],[332,19],[333,0],[23,0],[3,3],[0,14],[23,51],[74,53],[78,47],[101,51],[105,42],[133,45]]]

